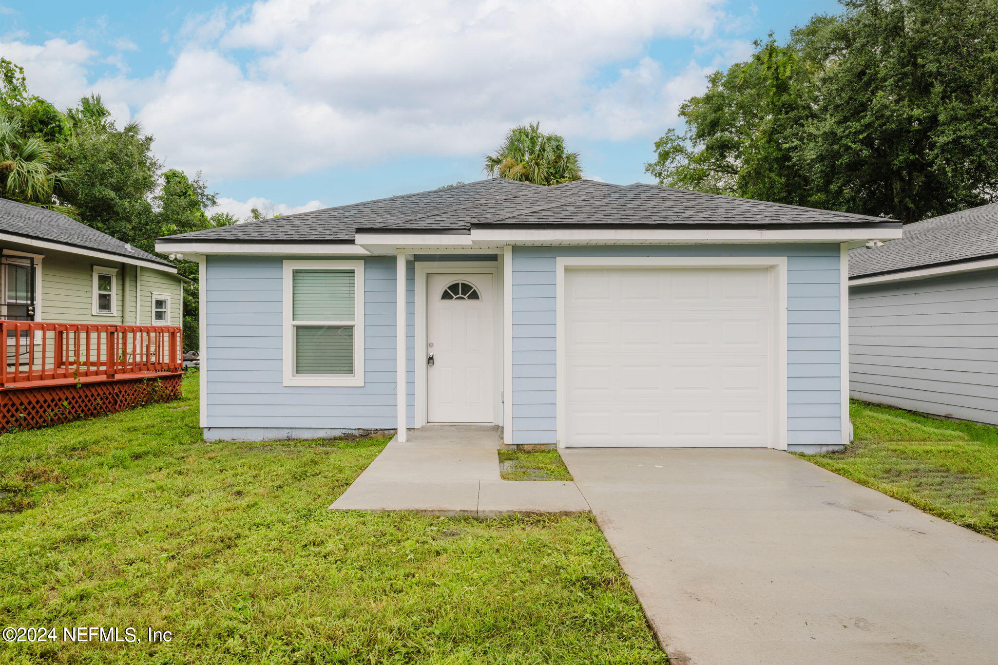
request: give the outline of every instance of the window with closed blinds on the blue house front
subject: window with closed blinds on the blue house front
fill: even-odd
[[[292,268],[293,377],[356,377],[357,270]]]

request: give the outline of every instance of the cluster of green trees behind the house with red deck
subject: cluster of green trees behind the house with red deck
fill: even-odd
[[[0,58],[0,197],[64,212],[113,237],[155,252],[156,238],[226,226],[209,214],[216,195],[197,173],[163,170],[153,137],[138,123],[121,129],[101,98],[59,111],[28,90],[24,70]],[[169,258],[169,257],[164,257]],[[170,258],[197,281],[197,264]],[[184,289],[184,341],[198,344],[198,285]]]

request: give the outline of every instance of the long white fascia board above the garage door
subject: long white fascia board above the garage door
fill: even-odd
[[[901,228],[787,228],[758,230],[749,228],[672,229],[672,228],[566,228],[530,229],[475,228],[471,241],[476,246],[543,242],[545,244],[575,244],[604,242],[607,244],[648,242],[847,242],[850,240],[887,240],[901,237]]]

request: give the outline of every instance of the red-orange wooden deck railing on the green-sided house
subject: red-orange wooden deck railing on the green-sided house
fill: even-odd
[[[0,321],[0,390],[183,371],[181,328]]]

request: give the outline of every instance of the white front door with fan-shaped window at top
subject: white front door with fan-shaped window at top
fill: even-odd
[[[491,423],[492,275],[430,273],[426,280],[426,420]]]

